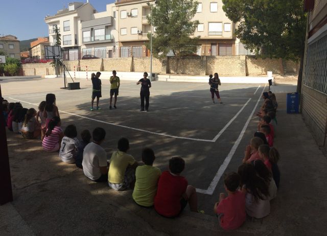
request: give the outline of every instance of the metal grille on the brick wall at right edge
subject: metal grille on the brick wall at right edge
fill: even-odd
[[[327,35],[308,45],[303,83],[327,94]]]

